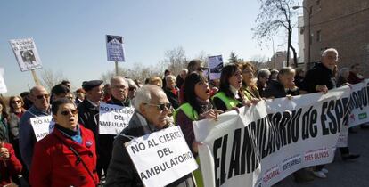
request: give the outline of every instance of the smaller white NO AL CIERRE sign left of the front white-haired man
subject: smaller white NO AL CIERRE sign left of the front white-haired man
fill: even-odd
[[[134,112],[133,107],[100,103],[99,134],[119,134],[128,126]]]

